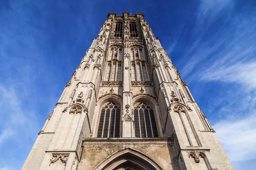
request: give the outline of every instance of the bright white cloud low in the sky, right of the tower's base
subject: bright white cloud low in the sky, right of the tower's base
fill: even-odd
[[[225,119],[213,125],[232,162],[256,159],[256,114]],[[242,159],[238,159],[242,158]]]

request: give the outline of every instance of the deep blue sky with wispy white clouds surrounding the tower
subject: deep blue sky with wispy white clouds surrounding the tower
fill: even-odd
[[[145,14],[235,169],[255,169],[255,0],[2,0],[0,170],[22,167],[108,12],[123,11]]]

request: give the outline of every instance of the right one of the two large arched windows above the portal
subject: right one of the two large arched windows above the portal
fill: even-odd
[[[134,124],[136,137],[158,137],[157,124],[151,105],[144,102],[140,102],[135,105]]]

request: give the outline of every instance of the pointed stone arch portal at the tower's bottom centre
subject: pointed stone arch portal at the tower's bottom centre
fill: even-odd
[[[162,168],[143,153],[128,148],[104,159],[94,170],[162,170]]]

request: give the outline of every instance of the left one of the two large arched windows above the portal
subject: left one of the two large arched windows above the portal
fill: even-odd
[[[101,110],[97,138],[120,137],[120,107],[108,102]]]

